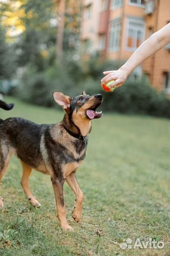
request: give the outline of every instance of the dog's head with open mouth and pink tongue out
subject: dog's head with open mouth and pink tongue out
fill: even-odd
[[[92,119],[102,117],[102,111],[96,111],[102,104],[102,94],[90,96],[83,91],[82,95],[69,97],[59,91],[54,91],[53,98],[54,101],[62,106],[63,110],[69,116],[69,119],[71,119],[81,131],[83,131],[83,127],[88,128],[91,126]]]

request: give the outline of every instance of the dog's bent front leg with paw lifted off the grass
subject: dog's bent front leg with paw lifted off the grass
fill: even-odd
[[[76,222],[79,222],[82,215],[83,192],[78,185],[75,172],[69,174],[66,178],[66,181],[76,195],[76,203],[74,206],[72,217],[74,220],[76,220]]]

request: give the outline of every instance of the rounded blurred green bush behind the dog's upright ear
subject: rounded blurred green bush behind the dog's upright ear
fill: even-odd
[[[28,67],[20,83],[15,93],[20,99],[47,107],[55,104],[52,99],[53,91],[62,91],[70,96],[80,93],[71,76],[60,65],[39,73],[36,73],[33,66]]]

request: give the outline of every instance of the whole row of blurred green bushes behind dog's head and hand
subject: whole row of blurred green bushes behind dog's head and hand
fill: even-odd
[[[110,64],[111,63],[111,64]],[[44,72],[37,72],[29,66],[20,86],[20,98],[42,106],[53,106],[53,91],[62,91],[69,96],[81,94],[83,90],[92,95],[102,93],[102,109],[120,113],[148,114],[170,118],[170,100],[164,93],[157,92],[149,85],[144,76],[140,81],[127,79],[125,84],[113,93],[105,92],[101,87],[103,70],[117,63],[101,62],[96,56],[83,65],[74,60],[65,60],[62,64],[47,65]]]

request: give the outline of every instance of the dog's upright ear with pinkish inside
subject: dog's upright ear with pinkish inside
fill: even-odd
[[[71,98],[62,92],[54,91],[52,93],[53,99],[59,106],[62,106],[64,110],[68,110],[70,107]]]

